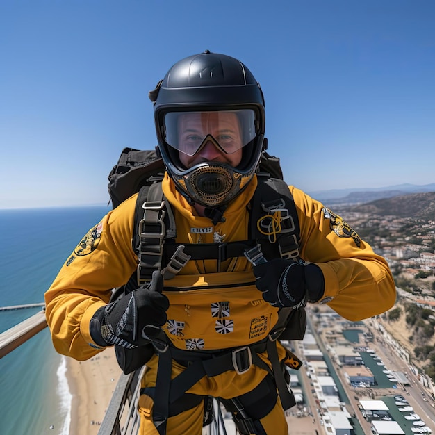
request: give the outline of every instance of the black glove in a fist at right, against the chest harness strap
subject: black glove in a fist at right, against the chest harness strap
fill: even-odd
[[[299,308],[317,302],[325,290],[322,270],[313,263],[277,258],[254,266],[256,287],[273,306]]]

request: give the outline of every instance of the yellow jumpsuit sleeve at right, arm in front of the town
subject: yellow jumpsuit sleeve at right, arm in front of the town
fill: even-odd
[[[385,258],[336,213],[290,186],[301,229],[300,254],[325,277],[318,303],[356,321],[384,313],[395,303],[395,284]]]

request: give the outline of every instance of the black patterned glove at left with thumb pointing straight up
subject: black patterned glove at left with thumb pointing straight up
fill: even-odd
[[[169,300],[163,291],[163,276],[154,271],[147,287],[97,310],[90,321],[90,335],[100,346],[137,347],[155,338],[165,325]]]

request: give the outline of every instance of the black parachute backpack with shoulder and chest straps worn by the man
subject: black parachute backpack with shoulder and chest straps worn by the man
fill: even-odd
[[[183,252],[179,252],[180,245],[174,243],[176,228],[170,204],[165,204],[165,234],[161,236],[160,246],[156,238],[141,238],[147,232],[160,231],[158,226],[158,213],[147,204],[163,203],[161,180],[165,173],[165,165],[158,151],[140,151],[138,149],[124,148],[117,164],[108,175],[108,192],[113,208],[119,206],[131,195],[138,193],[136,201],[135,222],[133,225],[133,250],[138,254],[138,272],[134,273],[129,281],[122,287],[113,291],[111,300],[122,297],[126,293],[145,285],[151,279],[154,270],[167,270],[166,273],[177,273],[183,266],[183,261],[198,258],[216,258],[221,256],[247,256],[250,251],[252,256],[259,254],[266,259],[295,258],[299,259],[299,220],[293,202],[293,197],[284,183],[283,174],[279,165],[279,158],[270,156],[265,151],[261,156],[257,172],[258,187],[251,202],[251,217],[249,224],[249,239],[245,242],[213,243],[201,245],[183,245]],[[268,236],[260,233],[256,222],[265,214],[268,206],[273,206],[277,201],[285,202],[289,215],[286,225],[279,233],[277,243],[270,243]],[[145,210],[145,211],[144,211]],[[150,216],[151,215],[151,220]],[[165,239],[163,243],[163,239]],[[152,246],[151,249],[149,249]],[[142,255],[143,251],[147,254]],[[164,249],[162,249],[164,247]],[[146,249],[145,249],[146,248]],[[159,255],[149,256],[149,251],[159,252]],[[163,252],[163,254],[162,254]],[[175,261],[173,259],[175,258]],[[249,258],[249,257],[248,257]],[[252,260],[252,258],[249,258]],[[172,263],[171,263],[172,262]],[[168,264],[171,263],[171,266]],[[169,269],[169,271],[168,271]],[[304,307],[295,309],[281,309],[279,325],[274,328],[279,331],[280,340],[301,340],[306,329],[306,313]],[[115,345],[117,361],[124,373],[132,372],[145,364],[152,354],[152,345],[141,346],[131,350]]]

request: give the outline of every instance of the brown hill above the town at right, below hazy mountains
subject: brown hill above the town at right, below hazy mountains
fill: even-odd
[[[352,211],[373,215],[394,215],[397,217],[416,217],[435,220],[435,192],[412,193],[392,198],[378,199],[360,206]]]

